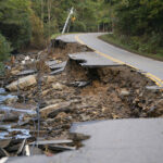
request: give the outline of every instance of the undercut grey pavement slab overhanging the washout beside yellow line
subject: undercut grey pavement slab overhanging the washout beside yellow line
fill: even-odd
[[[100,67],[100,66],[120,66],[122,64],[117,64],[111,60],[105,60],[105,58],[101,58],[96,52],[79,52],[74,54],[68,54],[71,60],[75,60],[80,62],[79,64],[84,67]]]

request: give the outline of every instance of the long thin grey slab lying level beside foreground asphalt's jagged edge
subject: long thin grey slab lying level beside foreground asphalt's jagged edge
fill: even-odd
[[[63,140],[42,140],[42,141],[37,141],[37,142],[30,142],[29,145],[62,145],[62,143],[72,143],[73,140],[70,139],[63,139]]]

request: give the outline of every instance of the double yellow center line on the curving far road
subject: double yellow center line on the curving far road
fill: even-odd
[[[82,41],[82,40],[79,39],[79,35],[75,35],[75,39],[76,39],[80,45],[86,45],[84,41]],[[87,46],[87,45],[86,45],[86,46]],[[89,47],[89,46],[87,46],[87,47],[90,48],[90,49],[92,49],[92,50],[95,50],[96,53],[100,54],[101,57],[106,58],[108,60],[111,60],[111,61],[116,62],[116,63],[118,63],[118,64],[125,64],[125,65],[127,65],[127,66],[129,66],[129,67],[133,67],[133,68],[135,68],[135,70],[137,70],[137,71],[140,71],[139,68],[137,68],[137,67],[135,67],[135,66],[133,66],[133,65],[130,65],[130,64],[127,64],[127,63],[125,63],[125,62],[123,62],[123,61],[120,61],[120,60],[117,60],[117,59],[114,59],[114,58],[110,57],[109,54],[105,54],[105,53],[103,53],[103,52],[100,52],[100,51],[98,51],[98,50],[96,50],[96,49],[93,49],[93,48],[91,48],[91,47]],[[153,80],[159,87],[163,87],[163,80],[162,80],[161,78],[159,78],[159,77],[156,77],[156,76],[154,76],[154,75],[152,75],[152,74],[150,74],[150,73],[142,73],[142,74],[143,74],[145,76],[147,76],[148,78],[150,78],[151,80]]]

